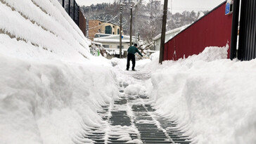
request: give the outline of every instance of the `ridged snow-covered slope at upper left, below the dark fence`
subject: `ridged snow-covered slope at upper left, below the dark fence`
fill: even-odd
[[[20,58],[82,62],[90,41],[57,0],[3,0],[0,53]]]

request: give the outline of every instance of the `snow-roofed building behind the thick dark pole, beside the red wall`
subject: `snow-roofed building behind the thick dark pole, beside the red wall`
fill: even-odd
[[[179,34],[182,30],[184,30],[188,25],[184,25],[182,27],[179,27],[174,30],[169,30],[165,33],[165,42],[169,41],[169,39],[172,39],[176,34]],[[158,36],[153,38],[153,41],[155,41],[155,51],[160,51],[160,44],[161,44],[161,34],[158,34]]]

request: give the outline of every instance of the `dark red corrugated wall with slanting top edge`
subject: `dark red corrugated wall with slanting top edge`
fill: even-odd
[[[223,3],[165,44],[164,60],[178,60],[201,53],[207,46],[226,46],[231,41],[232,15]]]

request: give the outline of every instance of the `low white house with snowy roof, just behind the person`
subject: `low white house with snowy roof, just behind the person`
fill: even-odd
[[[129,36],[122,36],[122,55],[126,55],[129,48]],[[135,41],[133,37],[132,41]],[[95,34],[94,42],[101,43],[106,51],[118,56],[120,53],[120,35],[117,34]]]

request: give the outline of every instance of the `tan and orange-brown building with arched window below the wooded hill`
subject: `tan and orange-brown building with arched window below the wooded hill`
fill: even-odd
[[[120,34],[120,26],[102,20],[89,20],[88,37],[94,40],[95,34]]]

